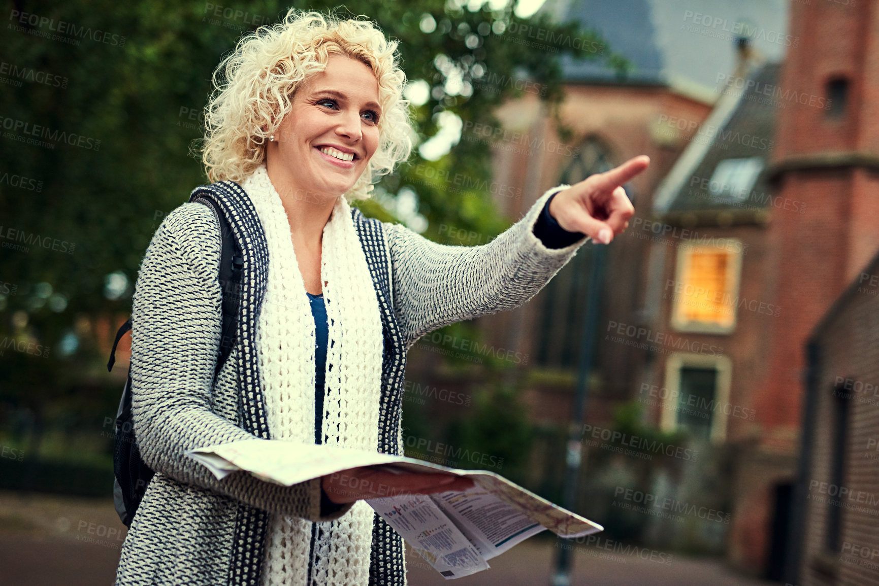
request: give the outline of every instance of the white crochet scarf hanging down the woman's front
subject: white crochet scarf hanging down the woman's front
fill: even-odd
[[[242,184],[268,243],[268,286],[257,344],[269,430],[274,439],[315,438],[315,322],[294,255],[287,213],[265,164]],[[351,207],[340,196],[323,228],[321,280],[330,336],[323,402],[326,445],[378,450],[381,315]],[[272,515],[263,584],[308,583],[311,526],[316,525],[315,584],[367,586],[373,510],[359,501],[335,521],[312,524]]]

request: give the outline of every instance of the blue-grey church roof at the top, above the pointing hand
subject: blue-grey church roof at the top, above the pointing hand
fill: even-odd
[[[676,86],[706,101],[735,69],[737,35],[750,33],[766,61],[781,61],[794,41],[787,0],[547,0],[541,12],[600,33],[631,61],[628,83]],[[563,55],[562,67],[572,83],[621,83],[601,59]]]

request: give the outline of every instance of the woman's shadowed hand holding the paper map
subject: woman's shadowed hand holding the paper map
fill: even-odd
[[[473,481],[453,474],[393,474],[374,467],[352,468],[321,478],[326,496],[337,504],[398,495],[430,495],[473,488]]]

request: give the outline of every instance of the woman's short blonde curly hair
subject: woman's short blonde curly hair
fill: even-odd
[[[208,180],[241,183],[256,170],[299,84],[323,71],[331,54],[344,54],[367,64],[379,86],[379,146],[345,193],[349,200],[367,199],[378,177],[412,149],[409,102],[402,97],[406,76],[396,47],[368,20],[293,8],[279,23],[244,35],[214,71],[214,92],[205,106],[201,162]]]

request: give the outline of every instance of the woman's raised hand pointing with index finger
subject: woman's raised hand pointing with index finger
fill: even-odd
[[[628,228],[628,219],[635,213],[622,185],[648,165],[650,157],[640,155],[612,170],[586,177],[558,192],[549,203],[549,214],[569,232],[581,232],[607,244]]]

